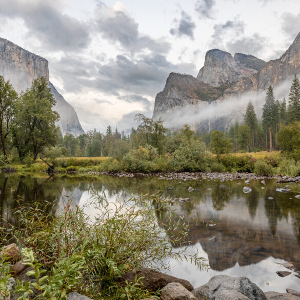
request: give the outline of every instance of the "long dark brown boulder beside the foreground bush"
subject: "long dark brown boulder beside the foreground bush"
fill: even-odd
[[[169,283],[179,283],[182,284],[188,291],[193,290],[193,286],[185,279],[180,279],[168,274],[164,274],[162,272],[150,269],[150,268],[143,268],[139,269],[136,272],[131,271],[127,272],[123,275],[124,282],[127,281],[129,283],[134,282],[135,275],[137,278],[144,277],[141,279],[143,283],[143,288],[149,291],[157,291],[157,289],[164,288]]]

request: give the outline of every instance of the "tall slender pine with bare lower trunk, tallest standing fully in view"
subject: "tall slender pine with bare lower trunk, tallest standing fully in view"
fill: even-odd
[[[273,89],[269,86],[267,95],[265,98],[265,104],[263,106],[263,127],[265,129],[265,138],[266,138],[266,150],[267,150],[267,140],[269,135],[270,142],[270,151],[272,151],[272,130],[274,126],[275,119],[275,97],[273,93]]]

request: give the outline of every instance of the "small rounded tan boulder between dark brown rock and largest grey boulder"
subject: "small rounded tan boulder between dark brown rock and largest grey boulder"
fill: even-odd
[[[196,300],[196,298],[183,285],[172,282],[163,288],[161,300]]]

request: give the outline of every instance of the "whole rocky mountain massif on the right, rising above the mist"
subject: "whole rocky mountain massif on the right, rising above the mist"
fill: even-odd
[[[241,97],[247,92],[266,91],[269,85],[279,86],[299,73],[300,33],[280,58],[270,62],[248,54],[232,56],[222,50],[209,50],[196,78],[175,73],[169,75],[164,90],[155,97],[153,118],[164,118],[166,114],[170,118],[170,112],[177,108],[205,106],[230,97]],[[224,129],[224,125],[223,122],[223,128],[219,129]]]

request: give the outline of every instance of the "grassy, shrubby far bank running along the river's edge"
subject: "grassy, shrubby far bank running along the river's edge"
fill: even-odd
[[[232,153],[216,156],[210,152],[186,151],[179,155],[158,155],[153,149],[139,147],[121,159],[113,157],[57,157],[47,159],[56,173],[68,172],[248,172],[257,175],[298,176],[300,164],[278,151]],[[4,165],[3,172],[45,173],[48,166],[41,159],[27,165]]]

